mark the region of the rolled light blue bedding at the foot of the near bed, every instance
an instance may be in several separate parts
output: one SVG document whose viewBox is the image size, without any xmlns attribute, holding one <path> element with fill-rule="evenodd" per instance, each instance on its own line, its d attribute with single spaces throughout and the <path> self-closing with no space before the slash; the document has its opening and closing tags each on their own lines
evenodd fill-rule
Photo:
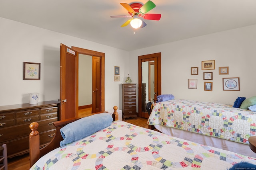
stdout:
<svg viewBox="0 0 256 170">
<path fill-rule="evenodd" d="M 109 113 L 99 113 L 69 123 L 60 129 L 60 134 L 64 139 L 60 141 L 60 146 L 78 141 L 104 129 L 111 125 L 112 121 L 113 118 Z"/>
</svg>

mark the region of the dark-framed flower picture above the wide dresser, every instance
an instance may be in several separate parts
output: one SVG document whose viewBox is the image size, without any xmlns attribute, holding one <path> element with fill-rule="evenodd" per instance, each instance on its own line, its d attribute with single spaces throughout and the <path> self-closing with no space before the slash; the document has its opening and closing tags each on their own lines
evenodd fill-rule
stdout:
<svg viewBox="0 0 256 170">
<path fill-rule="evenodd" d="M 23 62 L 23 80 L 40 80 L 40 63 Z"/>
</svg>

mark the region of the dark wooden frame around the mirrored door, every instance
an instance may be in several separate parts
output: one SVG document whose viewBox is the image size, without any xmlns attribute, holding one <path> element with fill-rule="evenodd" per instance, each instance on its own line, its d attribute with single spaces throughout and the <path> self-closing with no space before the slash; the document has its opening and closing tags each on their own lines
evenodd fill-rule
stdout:
<svg viewBox="0 0 256 170">
<path fill-rule="evenodd" d="M 151 58 L 157 58 L 157 92 L 158 95 L 160 95 L 161 92 L 161 53 L 154 53 L 154 54 L 148 54 L 148 55 L 141 55 L 138 56 L 138 72 L 139 72 L 139 81 L 138 81 L 138 117 L 141 117 L 142 115 L 142 60 L 143 59 L 151 59 Z"/>
</svg>

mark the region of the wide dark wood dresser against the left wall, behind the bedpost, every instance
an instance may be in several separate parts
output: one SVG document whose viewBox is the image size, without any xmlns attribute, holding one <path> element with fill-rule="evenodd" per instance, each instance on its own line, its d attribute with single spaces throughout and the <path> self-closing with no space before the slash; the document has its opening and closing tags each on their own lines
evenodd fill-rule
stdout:
<svg viewBox="0 0 256 170">
<path fill-rule="evenodd" d="M 39 123 L 40 146 L 48 144 L 55 135 L 59 102 L 0 106 L 0 145 L 6 143 L 8 158 L 29 152 L 29 125 Z"/>
</svg>

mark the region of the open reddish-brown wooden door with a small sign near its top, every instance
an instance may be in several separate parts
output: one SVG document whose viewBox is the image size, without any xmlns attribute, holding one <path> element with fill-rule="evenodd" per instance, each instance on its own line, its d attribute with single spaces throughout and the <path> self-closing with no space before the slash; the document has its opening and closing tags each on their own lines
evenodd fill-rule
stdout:
<svg viewBox="0 0 256 170">
<path fill-rule="evenodd" d="M 78 53 L 60 44 L 60 120 L 78 117 Z"/>
</svg>

